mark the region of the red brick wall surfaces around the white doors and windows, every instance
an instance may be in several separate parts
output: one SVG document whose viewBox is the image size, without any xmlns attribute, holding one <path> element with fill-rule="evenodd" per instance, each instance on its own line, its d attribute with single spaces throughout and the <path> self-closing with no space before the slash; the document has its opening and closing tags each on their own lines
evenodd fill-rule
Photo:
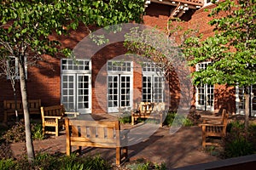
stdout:
<svg viewBox="0 0 256 170">
<path fill-rule="evenodd" d="M 166 22 L 169 18 L 170 11 L 173 7 L 167 5 L 160 5 L 156 3 L 151 3 L 146 8 L 146 15 L 143 16 L 143 23 L 148 26 L 157 26 L 160 30 L 166 31 Z M 212 8 L 208 6 L 207 8 Z M 189 13 L 183 16 L 183 20 L 189 20 L 189 14 L 194 13 L 194 11 L 189 11 Z M 204 37 L 212 36 L 212 27 L 207 25 L 207 22 L 211 20 L 207 17 L 208 12 L 204 11 L 204 8 L 199 9 L 192 15 L 191 20 L 183 22 L 181 24 L 184 29 L 188 28 L 198 28 L 200 33 L 204 34 Z M 95 29 L 95 28 L 93 28 Z M 63 47 L 74 48 L 75 45 L 81 41 L 88 31 L 83 26 L 80 26 L 77 31 L 72 31 L 69 37 L 57 37 L 61 40 Z M 56 38 L 53 36 L 52 38 Z M 95 92 L 95 81 L 96 75 L 105 65 L 108 59 L 112 59 L 117 55 L 125 54 L 125 48 L 122 47 L 122 43 L 115 43 L 106 48 L 103 48 L 92 58 L 92 110 L 94 112 L 102 112 L 101 105 L 96 101 Z M 40 61 L 37 67 L 30 67 L 28 69 L 28 97 L 29 99 L 42 99 L 42 105 L 57 105 L 60 104 L 61 100 L 61 68 L 60 68 L 60 56 L 45 57 L 45 61 Z M 141 93 L 142 90 L 142 75 L 139 71 L 134 71 L 134 84 L 133 88 L 137 89 Z M 173 72 L 170 77 L 170 95 L 171 103 L 170 108 L 176 110 L 179 103 L 179 82 L 175 72 Z M 19 84 L 17 83 L 17 86 Z M 10 82 L 6 78 L 1 79 L 0 83 L 0 112 L 3 114 L 3 99 L 13 99 L 13 91 Z M 20 96 L 19 87 L 17 88 L 17 94 Z M 218 111 L 223 107 L 227 107 L 231 112 L 235 112 L 235 97 L 234 88 L 226 88 L 225 86 L 216 86 L 215 90 L 215 110 Z M 195 93 L 195 92 L 194 92 Z M 141 96 L 134 93 L 134 99 L 140 100 Z M 102 99 L 107 100 L 107 91 L 102 92 Z M 195 99 L 192 104 L 195 103 Z M 227 105 L 229 103 L 229 105 Z M 134 104 L 135 105 L 135 104 Z M 105 105 L 107 107 L 107 103 Z M 0 114 L 1 115 L 1 114 Z"/>
</svg>

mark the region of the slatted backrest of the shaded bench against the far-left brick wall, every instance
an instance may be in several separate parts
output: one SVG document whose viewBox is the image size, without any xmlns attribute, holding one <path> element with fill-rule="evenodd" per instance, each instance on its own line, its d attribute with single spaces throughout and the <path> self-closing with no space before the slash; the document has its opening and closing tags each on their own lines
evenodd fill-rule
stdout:
<svg viewBox="0 0 256 170">
<path fill-rule="evenodd" d="M 29 109 L 38 109 L 41 107 L 41 99 L 29 99 L 28 108 Z M 21 100 L 17 100 L 17 109 L 22 110 L 23 105 Z M 15 100 L 4 100 L 3 101 L 4 110 L 15 110 Z"/>
</svg>

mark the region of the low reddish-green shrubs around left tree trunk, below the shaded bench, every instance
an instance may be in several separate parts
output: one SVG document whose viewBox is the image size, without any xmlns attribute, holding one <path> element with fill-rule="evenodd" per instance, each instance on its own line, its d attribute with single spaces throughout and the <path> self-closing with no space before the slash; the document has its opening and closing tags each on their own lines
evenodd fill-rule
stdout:
<svg viewBox="0 0 256 170">
<path fill-rule="evenodd" d="M 41 123 L 32 122 L 31 128 L 32 139 L 44 139 Z M 20 122 L 15 122 L 15 125 L 11 126 L 9 130 L 3 134 L 3 139 L 5 139 L 5 141 L 9 143 L 25 142 L 26 134 L 24 120 L 20 120 Z"/>
</svg>

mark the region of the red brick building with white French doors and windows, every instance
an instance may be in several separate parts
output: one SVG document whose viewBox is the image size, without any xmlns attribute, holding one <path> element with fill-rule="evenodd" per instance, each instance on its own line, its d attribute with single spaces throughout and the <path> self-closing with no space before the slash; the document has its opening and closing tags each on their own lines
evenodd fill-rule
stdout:
<svg viewBox="0 0 256 170">
<path fill-rule="evenodd" d="M 149 3 L 150 2 L 150 3 Z M 143 24 L 166 30 L 167 20 L 179 17 L 184 20 L 183 28 L 196 28 L 205 37 L 213 35 L 207 24 L 209 17 L 205 8 L 214 5 L 207 0 L 151 0 L 146 2 Z M 59 37 L 64 47 L 74 48 L 88 35 L 84 27 L 71 32 L 69 37 Z M 168 107 L 177 110 L 180 99 L 178 77 L 168 78 L 164 85 L 161 75 L 155 74 L 152 65 L 138 65 L 133 59 L 122 60 L 117 56 L 125 54 L 122 42 L 115 42 L 99 50 L 90 59 L 79 59 L 79 65 L 72 59 L 61 56 L 44 56 L 38 65 L 27 68 L 27 93 L 29 99 L 41 99 L 42 105 L 63 103 L 69 111 L 82 113 L 118 112 L 119 108 L 134 108 L 136 102 L 161 102 L 169 99 Z M 111 60 L 113 59 L 113 60 Z M 119 63 L 120 65 L 114 65 Z M 111 65 L 113 67 L 111 67 Z M 207 63 L 198 65 L 203 69 Z M 18 98 L 20 84 L 16 81 Z M 152 90 L 154 89 L 154 90 Z M 2 77 L 0 84 L 0 117 L 3 116 L 3 100 L 14 99 L 9 80 Z M 166 91 L 167 90 L 167 91 Z M 253 91 L 254 90 L 254 91 Z M 255 87 L 252 93 L 255 94 Z M 227 108 L 232 114 L 243 113 L 242 89 L 227 88 L 224 85 L 201 85 L 193 89 L 191 105 L 199 110 L 218 112 Z M 255 101 L 254 101 L 255 102 Z M 253 97 L 251 110 L 255 111 Z"/>
</svg>

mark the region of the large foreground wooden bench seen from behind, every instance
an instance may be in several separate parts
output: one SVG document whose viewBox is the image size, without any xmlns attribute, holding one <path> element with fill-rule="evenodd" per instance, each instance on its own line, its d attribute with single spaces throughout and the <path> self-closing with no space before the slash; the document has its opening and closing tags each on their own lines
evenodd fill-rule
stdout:
<svg viewBox="0 0 256 170">
<path fill-rule="evenodd" d="M 66 118 L 67 156 L 72 146 L 115 148 L 116 165 L 128 158 L 129 130 L 120 131 L 119 121 L 87 121 Z"/>
</svg>

